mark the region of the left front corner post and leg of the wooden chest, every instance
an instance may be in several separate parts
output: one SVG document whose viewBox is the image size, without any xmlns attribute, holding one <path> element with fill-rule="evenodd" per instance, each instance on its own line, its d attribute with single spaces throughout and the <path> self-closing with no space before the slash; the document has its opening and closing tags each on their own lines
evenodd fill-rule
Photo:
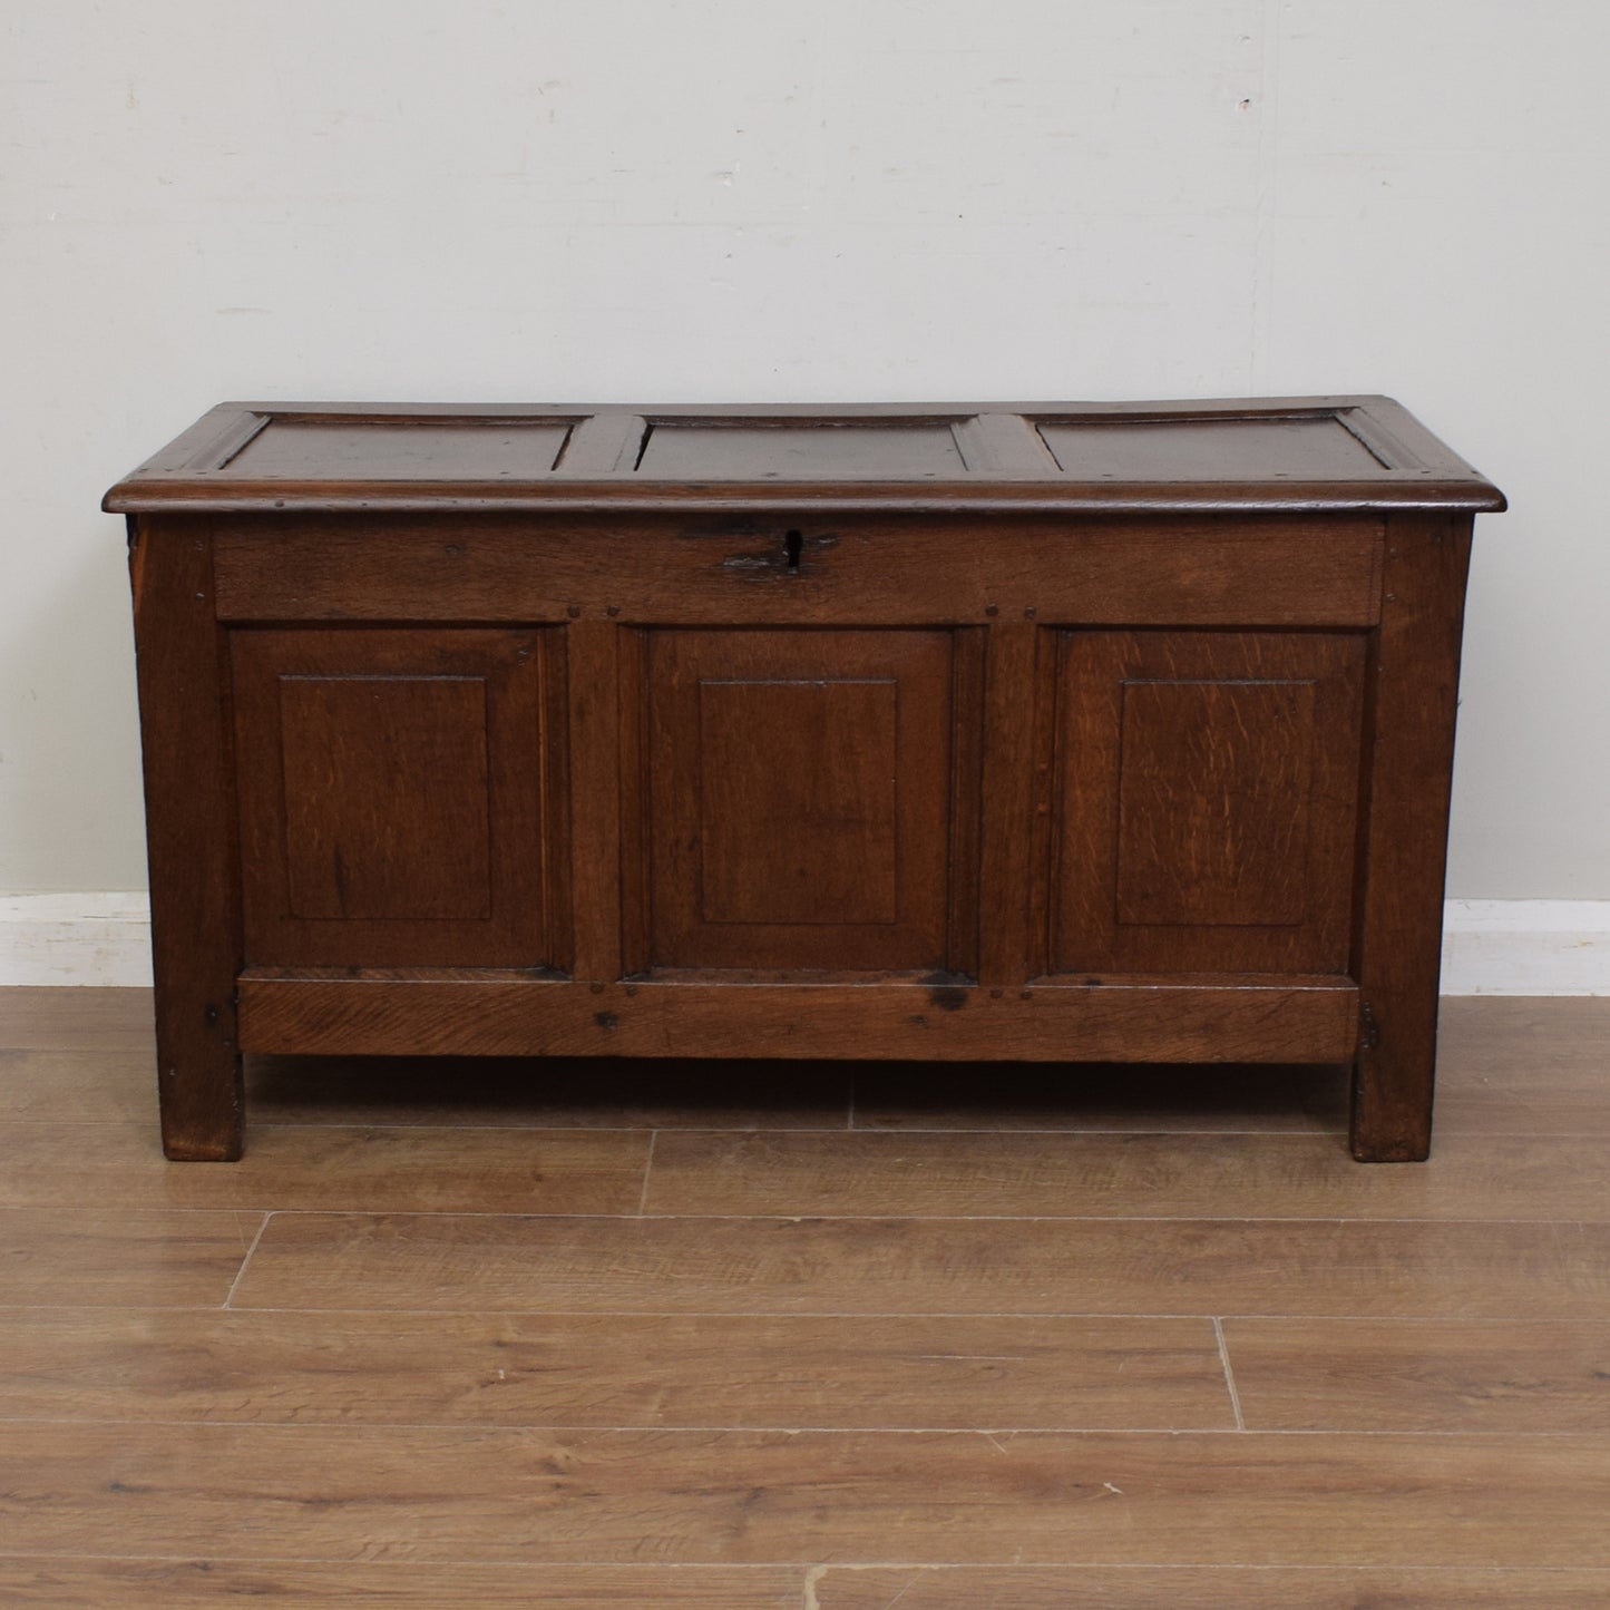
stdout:
<svg viewBox="0 0 1610 1610">
<path fill-rule="evenodd" d="M 229 1161 L 243 1143 L 235 976 L 245 950 L 213 533 L 148 517 L 129 538 L 163 1145 L 174 1159 Z"/>
</svg>

